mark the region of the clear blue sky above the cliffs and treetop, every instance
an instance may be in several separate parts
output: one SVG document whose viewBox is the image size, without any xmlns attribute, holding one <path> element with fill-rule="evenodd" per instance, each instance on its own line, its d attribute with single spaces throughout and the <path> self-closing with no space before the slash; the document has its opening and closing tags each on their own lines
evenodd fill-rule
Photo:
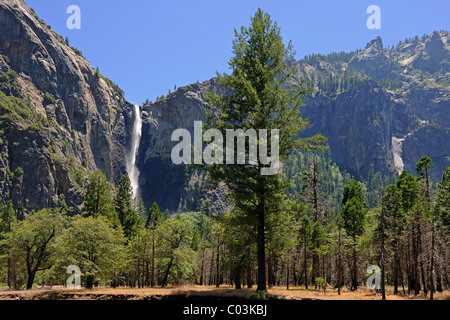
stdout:
<svg viewBox="0 0 450 320">
<path fill-rule="evenodd" d="M 385 46 L 406 37 L 450 30 L 449 0 L 26 0 L 52 29 L 142 104 L 178 87 L 226 72 L 234 29 L 258 7 L 292 40 L 297 58 L 351 51 L 381 36 Z M 81 30 L 69 30 L 69 5 L 81 9 Z M 369 30 L 369 5 L 381 9 L 381 30 Z"/>
</svg>

